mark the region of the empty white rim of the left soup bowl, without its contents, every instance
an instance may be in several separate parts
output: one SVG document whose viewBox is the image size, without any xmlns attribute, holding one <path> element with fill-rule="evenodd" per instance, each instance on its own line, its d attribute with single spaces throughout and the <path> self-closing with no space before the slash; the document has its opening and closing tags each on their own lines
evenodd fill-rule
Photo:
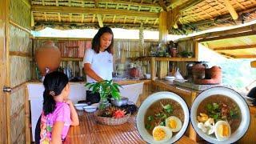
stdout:
<svg viewBox="0 0 256 144">
<path fill-rule="evenodd" d="M 156 101 L 164 98 L 170 98 L 176 102 L 178 102 L 183 109 L 184 112 L 184 122 L 182 125 L 182 129 L 178 131 L 177 134 L 174 135 L 174 137 L 170 138 L 169 141 L 164 143 L 174 143 L 178 141 L 179 138 L 182 138 L 183 134 L 186 132 L 187 127 L 189 126 L 190 122 L 190 112 L 186 105 L 186 102 L 177 94 L 171 93 L 171 92 L 158 92 L 151 94 L 144 102 L 142 102 L 142 105 L 138 109 L 138 114 L 136 117 L 136 125 L 138 129 L 138 133 L 141 135 L 142 139 L 145 140 L 148 143 L 159 143 L 157 141 L 154 141 L 154 138 L 152 135 L 150 135 L 145 128 L 144 123 L 144 115 L 146 114 L 146 110 Z"/>
</svg>

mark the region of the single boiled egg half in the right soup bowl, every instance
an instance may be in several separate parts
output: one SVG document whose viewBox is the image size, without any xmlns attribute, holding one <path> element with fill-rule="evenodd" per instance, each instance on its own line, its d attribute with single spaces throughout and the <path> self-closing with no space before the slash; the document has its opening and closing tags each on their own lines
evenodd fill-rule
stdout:
<svg viewBox="0 0 256 144">
<path fill-rule="evenodd" d="M 230 124 L 226 121 L 218 121 L 215 124 L 214 133 L 219 141 L 225 141 L 230 138 L 231 128 Z"/>
</svg>

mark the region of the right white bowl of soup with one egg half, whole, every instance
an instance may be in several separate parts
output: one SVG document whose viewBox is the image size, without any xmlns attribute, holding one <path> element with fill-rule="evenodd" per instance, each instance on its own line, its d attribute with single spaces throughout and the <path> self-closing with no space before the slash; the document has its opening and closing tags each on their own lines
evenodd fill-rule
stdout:
<svg viewBox="0 0 256 144">
<path fill-rule="evenodd" d="M 194 130 L 207 142 L 233 143 L 246 134 L 250 110 L 236 91 L 214 87 L 194 99 L 190 119 Z"/>
</svg>

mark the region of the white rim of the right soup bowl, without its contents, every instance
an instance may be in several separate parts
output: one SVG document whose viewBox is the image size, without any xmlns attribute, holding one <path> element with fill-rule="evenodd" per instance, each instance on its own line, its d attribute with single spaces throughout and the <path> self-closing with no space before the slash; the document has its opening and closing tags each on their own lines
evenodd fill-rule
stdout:
<svg viewBox="0 0 256 144">
<path fill-rule="evenodd" d="M 197 110 L 198 110 L 199 104 L 205 98 L 208 98 L 215 94 L 222 94 L 222 95 L 225 95 L 226 97 L 232 98 L 234 102 L 237 102 L 242 113 L 242 121 L 240 123 L 240 126 L 234 133 L 231 134 L 230 138 L 226 141 L 218 141 L 218 139 L 215 138 L 215 136 L 210 136 L 203 133 L 202 130 L 198 128 L 198 124 L 197 124 Z M 249 107 L 247 106 L 246 100 L 242 98 L 242 96 L 238 94 L 236 91 L 226 87 L 214 87 L 214 88 L 210 88 L 203 91 L 201 94 L 198 95 L 197 98 L 194 99 L 194 102 L 191 106 L 191 111 L 190 111 L 190 120 L 192 122 L 192 126 L 194 127 L 194 130 L 199 134 L 200 137 L 205 139 L 207 142 L 222 143 L 222 144 L 233 143 L 233 142 L 237 142 L 240 138 L 242 138 L 244 134 L 246 134 L 246 131 L 248 130 L 250 125 L 250 111 L 249 111 Z"/>
</svg>

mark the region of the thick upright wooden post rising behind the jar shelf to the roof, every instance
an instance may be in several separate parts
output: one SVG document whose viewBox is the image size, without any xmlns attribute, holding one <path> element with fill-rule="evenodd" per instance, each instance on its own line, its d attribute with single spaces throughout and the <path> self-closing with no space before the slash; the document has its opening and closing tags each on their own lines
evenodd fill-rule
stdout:
<svg viewBox="0 0 256 144">
<path fill-rule="evenodd" d="M 159 17 L 159 42 L 167 42 L 167 16 L 168 12 L 162 11 Z M 164 78 L 168 74 L 168 62 L 159 62 L 158 79 Z"/>
</svg>

